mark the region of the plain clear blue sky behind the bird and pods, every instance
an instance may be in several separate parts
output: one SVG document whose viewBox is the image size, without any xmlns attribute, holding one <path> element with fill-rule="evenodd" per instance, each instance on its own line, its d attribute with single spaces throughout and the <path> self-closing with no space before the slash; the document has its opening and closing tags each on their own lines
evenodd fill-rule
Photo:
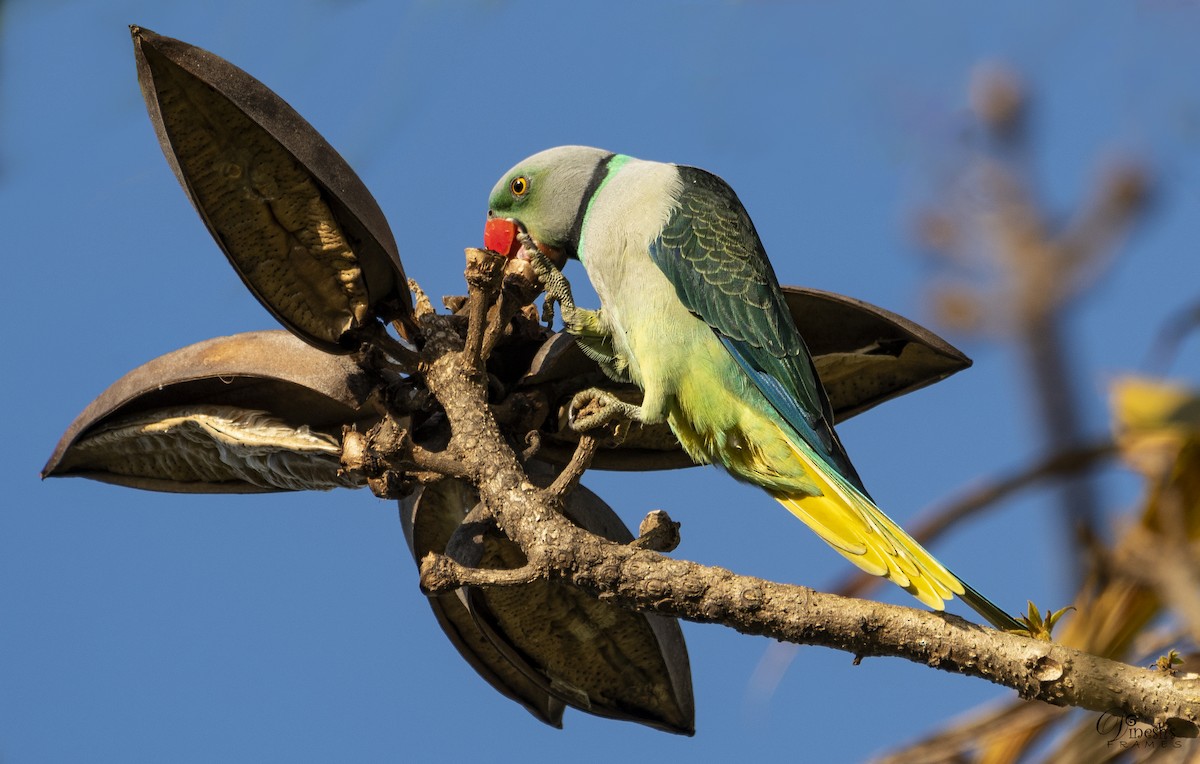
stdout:
<svg viewBox="0 0 1200 764">
<path fill-rule="evenodd" d="M 1012 697 L 806 648 L 763 698 L 751 678 L 770 642 L 688 624 L 694 739 L 575 711 L 554 730 L 452 651 L 395 507 L 366 492 L 214 498 L 40 482 L 61 432 L 126 371 L 274 326 L 163 161 L 133 23 L 208 48 L 288 100 L 372 190 L 432 295 L 463 290 L 462 248 L 481 241 L 496 178 L 540 149 L 583 143 L 722 175 L 780 281 L 929 323 L 931 271 L 912 221 L 961 151 L 968 72 L 990 59 L 1033 88 L 1033 169 L 1055 215 L 1088 194 L 1105 158 L 1141 157 L 1158 175 L 1147 224 L 1069 321 L 1091 432 L 1105 428 L 1108 380 L 1139 368 L 1200 283 L 1190 4 L 10 0 L 0 758 L 856 760 Z M 568 276 L 587 303 L 582 272 Z M 973 368 L 840 428 L 872 494 L 906 524 L 1038 450 L 1012 350 L 947 336 Z M 1195 341 L 1172 372 L 1200 379 Z M 712 469 L 586 482 L 632 527 L 666 509 L 683 523 L 680 557 L 818 588 L 848 567 Z M 1112 512 L 1136 495 L 1128 477 L 1105 487 Z M 935 553 L 1010 609 L 1066 604 L 1052 506 L 1022 497 Z M 912 604 L 899 590 L 875 596 Z"/>
</svg>

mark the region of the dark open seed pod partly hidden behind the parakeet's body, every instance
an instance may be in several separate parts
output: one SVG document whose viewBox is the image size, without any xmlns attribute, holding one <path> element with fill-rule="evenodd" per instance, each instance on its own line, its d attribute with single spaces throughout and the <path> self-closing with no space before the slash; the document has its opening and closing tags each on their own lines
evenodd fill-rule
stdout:
<svg viewBox="0 0 1200 764">
<path fill-rule="evenodd" d="M 784 296 L 812 354 L 836 421 L 971 366 L 971 359 L 934 332 L 869 302 L 804 287 L 784 287 Z M 641 401 L 637 387 L 605 377 L 566 333 L 546 341 L 521 385 L 547 390 L 559 411 L 557 431 L 544 434 L 539 452 L 557 463 L 570 458 L 578 440 L 566 421 L 566 408 L 576 392 L 602 387 L 618 397 Z M 635 423 L 620 447 L 599 451 L 592 465 L 649 470 L 691 467 L 692 461 L 665 423 Z"/>
</svg>

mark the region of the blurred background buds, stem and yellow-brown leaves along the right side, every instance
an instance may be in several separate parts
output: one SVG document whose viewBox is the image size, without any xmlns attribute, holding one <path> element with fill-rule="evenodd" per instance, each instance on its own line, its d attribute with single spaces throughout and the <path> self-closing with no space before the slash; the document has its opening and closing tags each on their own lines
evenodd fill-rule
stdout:
<svg viewBox="0 0 1200 764">
<path fill-rule="evenodd" d="M 934 294 L 942 320 L 1016 351 L 1051 455 L 1045 464 L 1062 465 L 1057 474 L 1038 467 L 1027 482 L 1049 476 L 1062 487 L 1060 563 L 1079 576 L 1079 589 L 1072 606 L 1044 614 L 1031 602 L 1022 620 L 1032 636 L 1094 655 L 1194 670 L 1194 658 L 1178 657 L 1177 648 L 1190 649 L 1200 638 L 1200 393 L 1159 379 L 1120 378 L 1111 384 L 1114 444 L 1090 445 L 1081 404 L 1088 372 L 1076 367 L 1064 320 L 1144 219 L 1153 179 L 1141 164 L 1110 164 L 1078 211 L 1050 212 L 1028 172 L 1022 83 L 1001 66 L 980 67 L 970 102 L 978 142 L 918 233 L 946 277 Z M 1145 481 L 1134 506 L 1106 506 L 1096 482 L 1074 477 L 1076 459 L 1063 458 L 1086 458 L 1085 471 L 1097 473 L 1109 453 Z M 1118 511 L 1116 522 L 1100 519 L 1106 509 Z M 1106 746 L 1094 714 L 1012 703 L 970 715 L 888 760 L 1102 762 L 1150 753 L 1150 744 L 1170 738 L 1170 730 L 1130 728 L 1145 745 Z M 1159 753 L 1176 751 L 1172 745 Z"/>
</svg>

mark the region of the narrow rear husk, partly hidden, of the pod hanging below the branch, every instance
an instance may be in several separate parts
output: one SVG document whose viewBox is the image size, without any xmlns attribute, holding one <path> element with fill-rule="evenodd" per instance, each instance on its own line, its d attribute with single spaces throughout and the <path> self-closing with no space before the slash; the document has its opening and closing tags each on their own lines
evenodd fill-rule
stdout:
<svg viewBox="0 0 1200 764">
<path fill-rule="evenodd" d="M 400 519 L 413 559 L 420 565 L 426 554 L 442 554 L 454 531 L 462 524 L 479 495 L 469 483 L 446 477 L 421 486 L 400 503 Z M 497 692 L 516 700 L 551 727 L 563 727 L 563 702 L 550 694 L 545 682 L 521 673 L 475 625 L 458 595 L 440 594 L 428 598 L 442 631 L 458 654 Z"/>
</svg>

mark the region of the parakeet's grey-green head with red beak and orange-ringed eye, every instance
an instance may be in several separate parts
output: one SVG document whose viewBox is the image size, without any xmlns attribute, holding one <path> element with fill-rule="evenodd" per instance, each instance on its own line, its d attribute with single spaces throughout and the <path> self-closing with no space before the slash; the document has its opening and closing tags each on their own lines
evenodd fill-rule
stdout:
<svg viewBox="0 0 1200 764">
<path fill-rule="evenodd" d="M 601 149 L 558 146 L 523 160 L 492 188 L 485 246 L 508 257 L 517 254 L 515 224 L 556 265 L 577 257 L 584 200 L 602 178 L 596 170 L 611 156 Z"/>
</svg>

